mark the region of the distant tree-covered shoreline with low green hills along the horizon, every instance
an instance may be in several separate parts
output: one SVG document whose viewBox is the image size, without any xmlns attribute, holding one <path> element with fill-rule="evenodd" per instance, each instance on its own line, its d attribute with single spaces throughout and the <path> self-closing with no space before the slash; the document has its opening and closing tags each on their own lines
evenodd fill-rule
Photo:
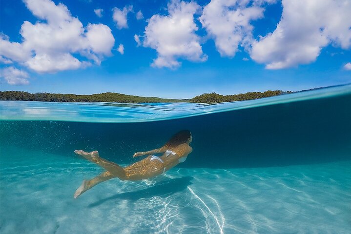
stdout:
<svg viewBox="0 0 351 234">
<path fill-rule="evenodd" d="M 217 93 L 205 93 L 190 99 L 169 99 L 157 97 L 140 97 L 119 93 L 101 93 L 92 95 L 76 94 L 52 94 L 52 93 L 28 93 L 23 91 L 0 91 L 0 100 L 17 101 L 47 101 L 47 102 L 121 102 L 121 103 L 150 103 L 150 102 L 194 102 L 194 103 L 219 103 L 229 101 L 243 101 L 259 98 L 268 98 L 278 95 L 298 93 L 310 90 L 324 89 L 329 87 L 342 86 L 334 85 L 328 87 L 313 88 L 297 92 L 268 90 L 265 92 L 248 92 L 245 94 L 220 95 Z"/>
</svg>

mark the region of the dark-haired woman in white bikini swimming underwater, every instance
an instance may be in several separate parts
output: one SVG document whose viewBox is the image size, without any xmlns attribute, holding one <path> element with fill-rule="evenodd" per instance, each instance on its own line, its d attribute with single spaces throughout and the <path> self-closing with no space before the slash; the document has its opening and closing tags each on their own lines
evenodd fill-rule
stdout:
<svg viewBox="0 0 351 234">
<path fill-rule="evenodd" d="M 141 180 L 163 174 L 180 162 L 184 162 L 188 154 L 192 152 L 189 144 L 192 141 L 190 131 L 183 130 L 173 135 L 164 146 L 146 152 L 137 152 L 133 157 L 149 155 L 141 161 L 133 163 L 127 167 L 121 167 L 114 162 L 110 162 L 99 156 L 97 151 L 90 153 L 83 150 L 75 150 L 74 153 L 83 156 L 85 159 L 95 162 L 104 169 L 105 172 L 90 180 L 83 180 L 82 185 L 76 190 L 74 198 L 83 194 L 95 185 L 111 178 L 118 177 L 121 180 Z M 154 156 L 152 154 L 161 154 Z"/>
</svg>

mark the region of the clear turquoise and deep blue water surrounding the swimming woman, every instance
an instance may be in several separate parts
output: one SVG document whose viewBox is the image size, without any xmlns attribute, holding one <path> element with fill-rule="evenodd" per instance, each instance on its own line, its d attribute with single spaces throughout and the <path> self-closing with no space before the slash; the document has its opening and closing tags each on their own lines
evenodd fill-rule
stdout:
<svg viewBox="0 0 351 234">
<path fill-rule="evenodd" d="M 251 101 L 0 101 L 0 232 L 350 233 L 351 85 Z M 193 152 L 163 176 L 111 179 L 75 155 L 123 166 L 189 129 Z"/>
</svg>

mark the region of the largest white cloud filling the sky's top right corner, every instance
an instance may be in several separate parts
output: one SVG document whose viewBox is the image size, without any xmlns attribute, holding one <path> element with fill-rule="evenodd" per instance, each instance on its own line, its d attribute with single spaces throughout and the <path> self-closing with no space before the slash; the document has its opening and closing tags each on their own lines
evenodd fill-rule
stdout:
<svg viewBox="0 0 351 234">
<path fill-rule="evenodd" d="M 330 43 L 351 46 L 350 0 L 282 0 L 277 28 L 252 45 L 250 56 L 267 69 L 282 69 L 316 60 Z"/>
</svg>

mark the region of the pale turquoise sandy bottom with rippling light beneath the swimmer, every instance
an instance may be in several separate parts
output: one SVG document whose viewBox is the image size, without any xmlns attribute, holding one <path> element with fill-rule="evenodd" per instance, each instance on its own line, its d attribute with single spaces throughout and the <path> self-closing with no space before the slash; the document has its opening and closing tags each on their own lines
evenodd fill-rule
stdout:
<svg viewBox="0 0 351 234">
<path fill-rule="evenodd" d="M 39 162 L 38 157 L 46 158 Z M 173 169 L 112 179 L 77 200 L 102 169 L 29 152 L 2 160 L 0 231 L 10 233 L 350 233 L 351 161 L 268 168 Z"/>
</svg>

